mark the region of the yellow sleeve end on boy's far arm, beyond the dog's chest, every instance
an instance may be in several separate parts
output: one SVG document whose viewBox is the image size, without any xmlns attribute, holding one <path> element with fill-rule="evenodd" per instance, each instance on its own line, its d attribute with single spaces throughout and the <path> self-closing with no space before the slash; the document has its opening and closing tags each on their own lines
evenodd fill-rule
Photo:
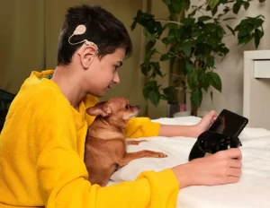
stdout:
<svg viewBox="0 0 270 208">
<path fill-rule="evenodd" d="M 129 138 L 157 136 L 160 124 L 152 122 L 148 117 L 133 117 L 126 126 L 126 136 Z"/>
</svg>

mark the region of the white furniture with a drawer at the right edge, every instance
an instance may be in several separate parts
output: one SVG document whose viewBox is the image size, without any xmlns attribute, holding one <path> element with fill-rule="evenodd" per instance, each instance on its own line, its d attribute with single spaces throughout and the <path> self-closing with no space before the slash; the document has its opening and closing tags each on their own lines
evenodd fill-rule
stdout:
<svg viewBox="0 0 270 208">
<path fill-rule="evenodd" d="M 270 130 L 270 50 L 245 51 L 243 116 L 249 127 Z M 257 79 L 256 76 L 260 76 Z M 265 78 L 262 78 L 265 76 Z"/>
</svg>

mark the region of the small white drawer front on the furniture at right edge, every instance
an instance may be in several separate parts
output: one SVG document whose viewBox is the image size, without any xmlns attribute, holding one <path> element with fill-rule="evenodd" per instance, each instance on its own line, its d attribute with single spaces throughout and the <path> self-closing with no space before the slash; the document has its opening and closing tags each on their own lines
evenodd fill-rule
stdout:
<svg viewBox="0 0 270 208">
<path fill-rule="evenodd" d="M 254 61 L 254 78 L 270 78 L 270 60 Z"/>
</svg>

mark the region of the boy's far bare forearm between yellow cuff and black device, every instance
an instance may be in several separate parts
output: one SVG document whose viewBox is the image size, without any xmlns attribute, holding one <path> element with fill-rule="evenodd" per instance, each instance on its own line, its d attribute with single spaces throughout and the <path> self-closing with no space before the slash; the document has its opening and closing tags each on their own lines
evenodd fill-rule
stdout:
<svg viewBox="0 0 270 208">
<path fill-rule="evenodd" d="M 161 125 L 158 135 L 167 137 L 172 136 L 197 137 L 198 130 L 196 126 Z"/>
</svg>

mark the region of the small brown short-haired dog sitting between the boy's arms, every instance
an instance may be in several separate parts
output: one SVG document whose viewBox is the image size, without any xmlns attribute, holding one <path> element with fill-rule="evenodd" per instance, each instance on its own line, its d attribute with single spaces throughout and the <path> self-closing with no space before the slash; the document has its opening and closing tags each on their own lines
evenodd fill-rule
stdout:
<svg viewBox="0 0 270 208">
<path fill-rule="evenodd" d="M 127 142 L 125 137 L 125 126 L 131 117 L 138 115 L 139 106 L 130 106 L 123 98 L 113 98 L 87 108 L 86 112 L 95 116 L 85 139 L 85 166 L 92 184 L 106 186 L 113 172 L 130 160 L 166 157 L 162 152 L 126 152 L 127 144 L 143 142 Z"/>
</svg>

